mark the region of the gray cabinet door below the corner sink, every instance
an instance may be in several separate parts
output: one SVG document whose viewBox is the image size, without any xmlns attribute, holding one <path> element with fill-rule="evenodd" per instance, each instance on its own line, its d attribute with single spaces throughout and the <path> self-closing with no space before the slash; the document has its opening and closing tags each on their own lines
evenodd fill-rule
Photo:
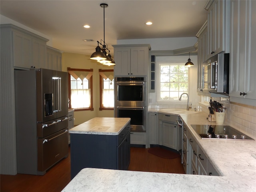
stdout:
<svg viewBox="0 0 256 192">
<path fill-rule="evenodd" d="M 162 123 L 162 145 L 177 150 L 177 125 Z"/>
</svg>

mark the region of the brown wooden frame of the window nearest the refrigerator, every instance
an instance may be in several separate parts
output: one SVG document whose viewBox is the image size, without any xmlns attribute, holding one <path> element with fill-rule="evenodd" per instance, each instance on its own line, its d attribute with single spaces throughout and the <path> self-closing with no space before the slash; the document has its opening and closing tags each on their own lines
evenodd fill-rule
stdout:
<svg viewBox="0 0 256 192">
<path fill-rule="evenodd" d="M 68 67 L 67 68 L 68 71 L 89 71 L 89 72 L 93 72 L 93 69 L 75 69 L 75 68 L 70 68 Z M 93 75 L 92 75 L 93 76 Z M 88 79 L 89 81 L 89 88 L 91 90 L 91 99 L 90 99 L 90 107 L 88 108 L 76 108 L 76 109 L 73 109 L 71 108 L 71 75 L 68 73 L 68 98 L 70 99 L 70 106 L 69 106 L 69 109 L 73 109 L 74 111 L 93 111 L 94 108 L 93 108 L 93 88 L 92 88 L 92 76 L 90 77 L 90 79 Z"/>
</svg>

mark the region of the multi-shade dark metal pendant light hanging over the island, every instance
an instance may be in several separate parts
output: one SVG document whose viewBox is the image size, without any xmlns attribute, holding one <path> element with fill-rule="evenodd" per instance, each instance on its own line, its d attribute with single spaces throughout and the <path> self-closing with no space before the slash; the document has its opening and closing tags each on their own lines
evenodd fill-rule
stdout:
<svg viewBox="0 0 256 192">
<path fill-rule="evenodd" d="M 96 52 L 94 52 L 90 59 L 93 60 L 97 60 L 97 62 L 100 62 L 101 64 L 104 65 L 115 65 L 115 61 L 111 58 L 111 55 L 109 54 L 110 50 L 108 50 L 107 44 L 105 43 L 105 8 L 108 7 L 108 4 L 106 3 L 102 3 L 100 4 L 100 7 L 103 8 L 103 23 L 104 23 L 104 40 L 103 40 L 103 44 L 102 44 L 102 40 L 101 42 L 98 42 L 98 46 L 96 47 Z M 100 45 L 102 45 L 102 48 L 100 48 Z M 106 50 L 108 50 L 108 55 Z"/>
</svg>

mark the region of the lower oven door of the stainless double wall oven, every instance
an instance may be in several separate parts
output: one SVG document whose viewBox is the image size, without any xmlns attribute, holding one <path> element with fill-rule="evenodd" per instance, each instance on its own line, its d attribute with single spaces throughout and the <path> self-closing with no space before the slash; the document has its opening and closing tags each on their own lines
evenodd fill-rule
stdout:
<svg viewBox="0 0 256 192">
<path fill-rule="evenodd" d="M 146 107 L 116 106 L 115 117 L 131 118 L 131 131 L 146 132 Z"/>
</svg>

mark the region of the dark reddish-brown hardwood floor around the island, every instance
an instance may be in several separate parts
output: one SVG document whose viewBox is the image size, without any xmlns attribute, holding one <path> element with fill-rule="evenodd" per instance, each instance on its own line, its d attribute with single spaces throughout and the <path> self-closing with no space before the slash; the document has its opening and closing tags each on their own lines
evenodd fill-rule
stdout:
<svg viewBox="0 0 256 192">
<path fill-rule="evenodd" d="M 129 170 L 185 173 L 181 159 L 164 159 L 146 148 L 131 148 Z M 0 175 L 0 192 L 60 192 L 70 182 L 70 155 L 50 168 L 44 176 Z"/>
</svg>

